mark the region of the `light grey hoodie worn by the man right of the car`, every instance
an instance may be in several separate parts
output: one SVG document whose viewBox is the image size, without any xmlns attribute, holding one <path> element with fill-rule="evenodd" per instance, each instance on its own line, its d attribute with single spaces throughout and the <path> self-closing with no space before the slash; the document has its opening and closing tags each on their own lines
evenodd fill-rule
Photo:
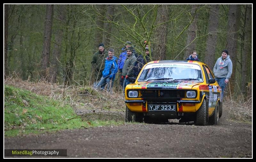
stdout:
<svg viewBox="0 0 256 162">
<path fill-rule="evenodd" d="M 225 60 L 222 59 L 222 56 L 218 58 L 216 61 L 214 67 L 213 67 L 213 73 L 216 78 L 226 78 L 229 79 L 232 74 L 232 61 L 230 60 L 229 55 Z"/>
</svg>

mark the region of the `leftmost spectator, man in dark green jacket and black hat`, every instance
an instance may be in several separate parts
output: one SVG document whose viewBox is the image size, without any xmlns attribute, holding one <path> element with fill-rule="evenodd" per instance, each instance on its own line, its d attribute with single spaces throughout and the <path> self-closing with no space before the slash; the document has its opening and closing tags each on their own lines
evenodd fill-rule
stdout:
<svg viewBox="0 0 256 162">
<path fill-rule="evenodd" d="M 102 77 L 102 71 L 105 66 L 105 59 L 108 56 L 107 51 L 105 51 L 104 44 L 99 44 L 99 50 L 95 52 L 95 54 L 92 57 L 92 72 L 93 72 L 93 87 L 97 85 L 100 78 Z"/>
</svg>

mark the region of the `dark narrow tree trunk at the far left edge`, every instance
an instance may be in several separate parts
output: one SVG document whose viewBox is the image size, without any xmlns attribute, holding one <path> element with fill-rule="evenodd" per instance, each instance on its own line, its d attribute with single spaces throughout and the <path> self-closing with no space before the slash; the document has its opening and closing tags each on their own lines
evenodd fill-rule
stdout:
<svg viewBox="0 0 256 162">
<path fill-rule="evenodd" d="M 4 5 L 4 78 L 8 75 L 7 45 L 8 45 L 8 16 L 9 4 Z"/>
</svg>

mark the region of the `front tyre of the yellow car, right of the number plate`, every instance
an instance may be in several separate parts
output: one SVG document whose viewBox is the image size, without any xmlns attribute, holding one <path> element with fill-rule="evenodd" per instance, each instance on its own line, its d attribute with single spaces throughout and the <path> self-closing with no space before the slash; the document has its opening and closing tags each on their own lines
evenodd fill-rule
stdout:
<svg viewBox="0 0 256 162">
<path fill-rule="evenodd" d="M 208 114 L 206 111 L 208 111 L 208 108 L 206 107 L 206 102 L 204 99 L 201 107 L 196 112 L 195 125 L 206 125 L 206 120 L 207 120 L 206 115 Z"/>
</svg>

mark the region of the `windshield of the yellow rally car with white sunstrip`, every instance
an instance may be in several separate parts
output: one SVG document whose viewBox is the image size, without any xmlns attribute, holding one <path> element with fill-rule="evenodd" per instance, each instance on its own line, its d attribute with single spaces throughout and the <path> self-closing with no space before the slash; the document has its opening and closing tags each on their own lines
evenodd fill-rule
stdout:
<svg viewBox="0 0 256 162">
<path fill-rule="evenodd" d="M 199 65 L 191 63 L 154 63 L 148 64 L 140 74 L 138 81 L 187 80 L 202 82 Z"/>
</svg>

